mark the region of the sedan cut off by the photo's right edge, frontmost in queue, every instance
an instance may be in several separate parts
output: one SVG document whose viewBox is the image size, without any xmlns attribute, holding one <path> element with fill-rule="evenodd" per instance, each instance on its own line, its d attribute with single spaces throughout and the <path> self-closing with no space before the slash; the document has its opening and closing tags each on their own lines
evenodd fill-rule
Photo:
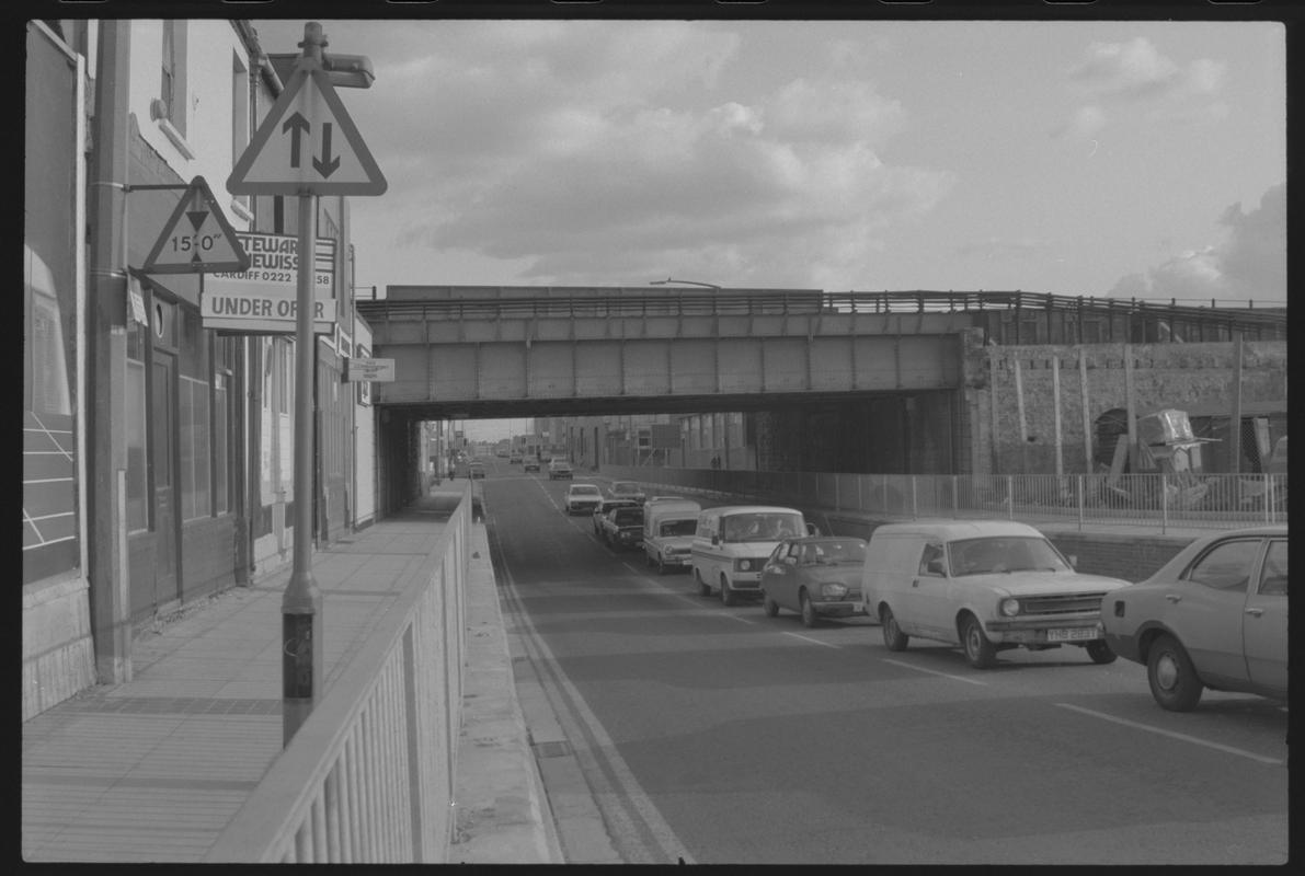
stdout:
<svg viewBox="0 0 1305 876">
<path fill-rule="evenodd" d="M 1105 641 L 1147 667 L 1155 701 L 1195 708 L 1205 688 L 1287 700 L 1287 525 L 1202 536 L 1111 593 Z"/>
</svg>

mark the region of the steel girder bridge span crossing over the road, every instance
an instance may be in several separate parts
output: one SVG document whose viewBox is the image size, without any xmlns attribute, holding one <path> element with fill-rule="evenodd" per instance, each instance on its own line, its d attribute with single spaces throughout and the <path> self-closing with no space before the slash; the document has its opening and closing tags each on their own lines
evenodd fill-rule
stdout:
<svg viewBox="0 0 1305 876">
<path fill-rule="evenodd" d="M 392 285 L 355 302 L 372 356 L 382 490 L 411 480 L 415 424 L 758 411 L 957 390 L 966 310 L 880 293 Z M 902 312 L 902 310 L 907 312 Z"/>
</svg>

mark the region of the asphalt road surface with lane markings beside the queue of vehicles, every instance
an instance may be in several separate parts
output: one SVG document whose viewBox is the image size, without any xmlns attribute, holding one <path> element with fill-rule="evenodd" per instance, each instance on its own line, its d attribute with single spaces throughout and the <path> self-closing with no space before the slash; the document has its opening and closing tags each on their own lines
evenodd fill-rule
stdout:
<svg viewBox="0 0 1305 876">
<path fill-rule="evenodd" d="M 491 545 L 624 860 L 1288 860 L 1279 704 L 1207 691 L 1176 714 L 1142 666 L 1078 648 L 981 671 L 944 645 L 889 652 L 865 618 L 727 609 L 599 542 L 566 486 L 491 460 Z"/>
</svg>

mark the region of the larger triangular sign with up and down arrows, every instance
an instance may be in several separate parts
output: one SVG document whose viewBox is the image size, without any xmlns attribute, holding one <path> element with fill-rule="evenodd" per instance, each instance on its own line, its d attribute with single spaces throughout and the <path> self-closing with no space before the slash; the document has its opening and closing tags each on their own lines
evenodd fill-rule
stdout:
<svg viewBox="0 0 1305 876">
<path fill-rule="evenodd" d="M 384 194 L 386 185 L 335 86 L 308 57 L 227 177 L 231 194 Z"/>
</svg>

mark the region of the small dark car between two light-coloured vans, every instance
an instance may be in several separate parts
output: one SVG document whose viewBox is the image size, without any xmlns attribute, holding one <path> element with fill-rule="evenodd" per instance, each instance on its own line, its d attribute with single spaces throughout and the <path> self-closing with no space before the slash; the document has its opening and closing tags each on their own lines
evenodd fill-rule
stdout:
<svg viewBox="0 0 1305 876">
<path fill-rule="evenodd" d="M 864 538 L 786 538 L 761 567 L 761 605 L 773 618 L 779 609 L 797 611 L 808 627 L 823 617 L 864 614 Z"/>
</svg>

